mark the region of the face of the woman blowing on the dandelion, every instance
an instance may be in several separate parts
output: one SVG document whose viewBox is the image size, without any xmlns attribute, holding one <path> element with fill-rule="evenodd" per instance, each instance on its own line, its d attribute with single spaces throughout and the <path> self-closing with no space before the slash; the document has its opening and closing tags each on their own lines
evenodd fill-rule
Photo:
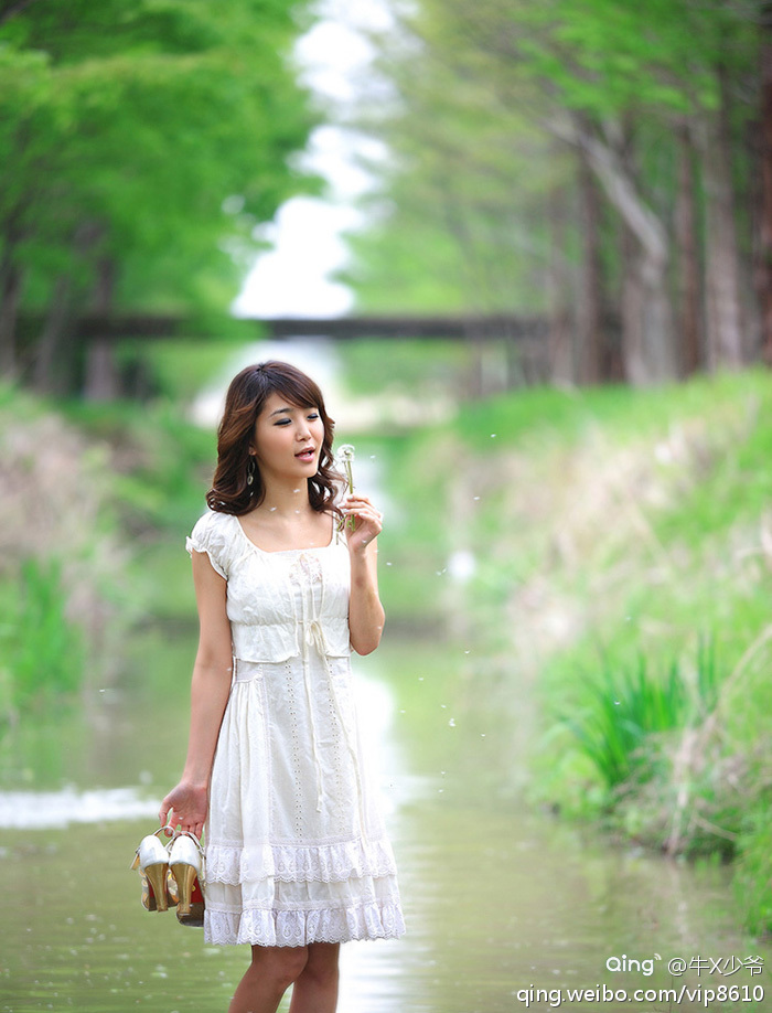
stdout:
<svg viewBox="0 0 772 1013">
<path fill-rule="evenodd" d="M 257 416 L 253 444 L 262 481 L 312 478 L 319 469 L 323 440 L 324 423 L 317 408 L 293 405 L 283 394 L 271 394 Z"/>
</svg>

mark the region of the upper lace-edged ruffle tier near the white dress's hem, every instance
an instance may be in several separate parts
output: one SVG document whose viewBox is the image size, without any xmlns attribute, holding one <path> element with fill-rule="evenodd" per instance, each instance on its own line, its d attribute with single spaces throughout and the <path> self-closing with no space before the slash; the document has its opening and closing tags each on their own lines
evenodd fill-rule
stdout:
<svg viewBox="0 0 772 1013">
<path fill-rule="evenodd" d="M 255 847 L 210 844 L 206 847 L 206 879 L 233 886 L 269 877 L 288 883 L 309 879 L 334 883 L 352 876 L 379 878 L 395 875 L 396 871 L 394 852 L 387 841 Z"/>
</svg>

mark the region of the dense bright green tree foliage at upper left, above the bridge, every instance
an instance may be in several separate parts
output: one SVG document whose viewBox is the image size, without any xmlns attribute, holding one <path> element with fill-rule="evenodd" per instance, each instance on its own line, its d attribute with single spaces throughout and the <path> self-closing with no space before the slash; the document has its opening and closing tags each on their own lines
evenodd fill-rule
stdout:
<svg viewBox="0 0 772 1013">
<path fill-rule="evenodd" d="M 226 308 L 256 224 L 313 186 L 288 164 L 314 122 L 303 23 L 291 0 L 0 6 L 6 373 L 66 377 L 84 311 Z"/>
</svg>

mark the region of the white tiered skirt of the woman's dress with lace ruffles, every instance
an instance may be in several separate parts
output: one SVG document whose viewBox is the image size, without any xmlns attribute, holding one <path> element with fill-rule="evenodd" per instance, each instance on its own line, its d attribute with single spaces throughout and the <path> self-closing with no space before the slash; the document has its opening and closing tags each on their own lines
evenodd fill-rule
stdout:
<svg viewBox="0 0 772 1013">
<path fill-rule="evenodd" d="M 405 931 L 347 658 L 237 661 L 206 827 L 204 938 L 304 946 Z"/>
</svg>

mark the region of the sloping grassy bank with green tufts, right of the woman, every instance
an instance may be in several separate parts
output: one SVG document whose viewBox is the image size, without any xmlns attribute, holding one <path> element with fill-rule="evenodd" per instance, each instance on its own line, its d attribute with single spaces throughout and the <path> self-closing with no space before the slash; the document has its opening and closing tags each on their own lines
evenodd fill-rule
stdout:
<svg viewBox="0 0 772 1013">
<path fill-rule="evenodd" d="M 533 724 L 530 801 L 737 860 L 754 930 L 772 926 L 771 407 L 762 372 L 530 390 L 380 447 L 403 504 L 384 593 L 485 646 L 476 692 Z"/>
</svg>

